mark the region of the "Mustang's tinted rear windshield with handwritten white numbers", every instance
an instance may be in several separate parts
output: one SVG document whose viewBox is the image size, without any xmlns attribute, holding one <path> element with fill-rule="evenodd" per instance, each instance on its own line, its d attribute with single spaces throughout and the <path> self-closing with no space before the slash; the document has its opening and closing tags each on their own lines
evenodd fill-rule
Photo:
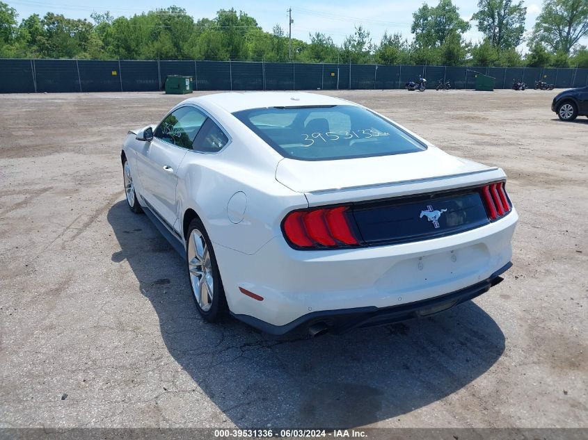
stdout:
<svg viewBox="0 0 588 440">
<path fill-rule="evenodd" d="M 289 158 L 326 161 L 427 149 L 395 124 L 358 106 L 254 108 L 233 114 Z"/>
</svg>

